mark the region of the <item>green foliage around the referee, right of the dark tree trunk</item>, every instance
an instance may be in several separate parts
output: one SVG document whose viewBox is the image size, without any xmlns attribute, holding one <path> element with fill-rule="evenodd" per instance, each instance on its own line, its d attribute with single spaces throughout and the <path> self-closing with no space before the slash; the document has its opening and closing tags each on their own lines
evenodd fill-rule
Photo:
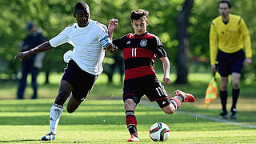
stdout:
<svg viewBox="0 0 256 144">
<path fill-rule="evenodd" d="M 235 1 L 232 3 L 231 14 L 240 15 L 246 22 L 250 30 L 250 38 L 252 42 L 253 55 L 255 55 L 256 46 L 256 18 L 254 18 L 254 7 L 256 3 L 252 0 Z M 206 62 L 206 66 L 210 65 L 209 52 L 209 31 L 210 22 L 218 17 L 218 2 L 215 0 L 197 0 L 194 3 L 194 8 L 190 17 L 190 56 L 199 57 L 199 61 Z M 253 56 L 254 57 L 254 56 Z M 256 64 L 253 60 L 253 65 L 246 68 L 246 71 L 255 73 Z"/>
</svg>

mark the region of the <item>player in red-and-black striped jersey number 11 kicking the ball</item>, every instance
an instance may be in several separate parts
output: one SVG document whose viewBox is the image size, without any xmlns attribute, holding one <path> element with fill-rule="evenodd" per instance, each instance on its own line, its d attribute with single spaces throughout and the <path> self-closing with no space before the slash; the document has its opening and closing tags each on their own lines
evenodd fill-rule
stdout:
<svg viewBox="0 0 256 144">
<path fill-rule="evenodd" d="M 114 39 L 113 43 L 122 50 L 125 62 L 125 80 L 123 87 L 123 101 L 126 110 L 126 126 L 130 132 L 128 142 L 138 142 L 137 119 L 135 107 L 144 94 L 151 102 L 155 101 L 166 114 L 173 114 L 182 102 L 194 102 L 192 94 L 175 90 L 174 98 L 168 98 L 164 86 L 159 82 L 154 69 L 156 57 L 162 61 L 164 71 L 163 82 L 170 84 L 170 62 L 160 39 L 146 31 L 149 21 L 147 10 L 133 10 L 130 14 L 131 26 L 134 34 L 126 34 L 122 38 Z M 111 19 L 109 34 L 112 35 L 118 26 L 117 19 Z"/>
</svg>

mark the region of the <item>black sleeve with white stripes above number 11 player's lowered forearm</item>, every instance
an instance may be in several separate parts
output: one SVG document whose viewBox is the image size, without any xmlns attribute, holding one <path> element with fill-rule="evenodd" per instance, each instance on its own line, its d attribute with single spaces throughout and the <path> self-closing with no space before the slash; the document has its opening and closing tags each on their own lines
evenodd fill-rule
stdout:
<svg viewBox="0 0 256 144">
<path fill-rule="evenodd" d="M 161 40 L 157 36 L 153 38 L 153 47 L 154 54 L 156 54 L 158 58 L 163 58 L 167 56 L 166 50 L 162 45 Z"/>
</svg>

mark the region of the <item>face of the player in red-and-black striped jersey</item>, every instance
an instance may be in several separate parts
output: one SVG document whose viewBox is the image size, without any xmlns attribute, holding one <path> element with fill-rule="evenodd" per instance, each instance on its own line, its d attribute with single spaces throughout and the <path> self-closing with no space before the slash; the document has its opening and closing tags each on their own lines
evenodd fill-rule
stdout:
<svg viewBox="0 0 256 144">
<path fill-rule="evenodd" d="M 146 33 L 146 26 L 148 24 L 149 24 L 149 21 L 146 19 L 146 16 L 138 20 L 134 19 L 133 22 L 131 22 L 131 26 L 133 26 L 134 28 L 134 33 L 138 35 L 142 35 Z"/>
</svg>

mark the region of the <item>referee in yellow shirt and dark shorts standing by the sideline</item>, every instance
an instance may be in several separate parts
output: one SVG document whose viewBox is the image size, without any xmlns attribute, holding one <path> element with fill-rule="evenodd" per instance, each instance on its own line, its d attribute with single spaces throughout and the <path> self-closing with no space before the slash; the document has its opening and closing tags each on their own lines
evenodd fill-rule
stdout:
<svg viewBox="0 0 256 144">
<path fill-rule="evenodd" d="M 236 119 L 236 104 L 238 101 L 240 86 L 239 81 L 243 68 L 251 63 L 250 32 L 244 20 L 235 14 L 230 14 L 231 4 L 227 0 L 218 2 L 218 10 L 221 14 L 210 25 L 210 64 L 221 75 L 220 98 L 222 102 L 221 118 L 227 119 L 226 101 L 228 75 L 232 76 L 232 106 L 230 118 Z M 245 47 L 245 50 L 243 50 Z M 246 54 L 245 54 L 246 53 Z"/>
</svg>

